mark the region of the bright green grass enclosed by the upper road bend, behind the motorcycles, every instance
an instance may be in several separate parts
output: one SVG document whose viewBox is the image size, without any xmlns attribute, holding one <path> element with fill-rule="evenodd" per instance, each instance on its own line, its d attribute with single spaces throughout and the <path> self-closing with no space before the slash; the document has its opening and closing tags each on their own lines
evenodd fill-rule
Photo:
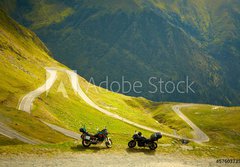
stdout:
<svg viewBox="0 0 240 167">
<path fill-rule="evenodd" d="M 58 80 L 51 88 L 48 96 L 43 94 L 35 103 L 33 115 L 44 119 L 50 123 L 71 129 L 78 132 L 79 128 L 86 126 L 87 130 L 96 133 L 97 129 L 103 129 L 105 126 L 110 132 L 116 145 L 125 144 L 132 136 L 135 130 L 139 128 L 130 126 L 119 120 L 113 119 L 94 108 L 87 105 L 81 98 L 76 96 L 71 90 L 70 82 L 64 82 L 69 98 L 64 98 L 61 93 L 57 92 L 61 78 L 64 79 L 66 74 L 59 73 Z M 64 101 L 64 103 L 62 103 Z M 151 133 L 141 130 L 146 136 Z"/>
</svg>

